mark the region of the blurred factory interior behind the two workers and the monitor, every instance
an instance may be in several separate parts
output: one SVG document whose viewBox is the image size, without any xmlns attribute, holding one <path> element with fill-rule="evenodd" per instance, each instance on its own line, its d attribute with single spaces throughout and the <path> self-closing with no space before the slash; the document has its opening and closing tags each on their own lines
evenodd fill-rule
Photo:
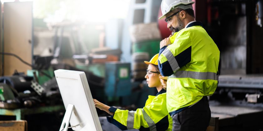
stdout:
<svg viewBox="0 0 263 131">
<path fill-rule="evenodd" d="M 194 0 L 197 21 L 220 50 L 209 97 L 215 130 L 263 130 L 263 0 Z M 65 108 L 54 70 L 85 71 L 92 97 L 142 108 L 149 61 L 171 32 L 162 0 L 1 0 L 0 125 L 57 131 Z M 103 129 L 111 129 L 97 109 Z M 27 126 L 26 126 L 27 125 Z M 0 126 L 1 130 L 1 126 Z M 111 129 L 115 130 L 115 129 Z"/>
</svg>

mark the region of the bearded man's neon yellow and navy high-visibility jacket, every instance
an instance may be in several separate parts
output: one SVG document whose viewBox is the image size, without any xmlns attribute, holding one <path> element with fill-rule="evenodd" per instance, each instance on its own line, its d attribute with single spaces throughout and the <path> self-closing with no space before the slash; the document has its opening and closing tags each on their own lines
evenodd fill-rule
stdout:
<svg viewBox="0 0 263 131">
<path fill-rule="evenodd" d="M 201 22 L 189 24 L 170 40 L 173 44 L 160 49 L 158 66 L 169 76 L 167 109 L 173 115 L 214 93 L 220 52 Z"/>
</svg>

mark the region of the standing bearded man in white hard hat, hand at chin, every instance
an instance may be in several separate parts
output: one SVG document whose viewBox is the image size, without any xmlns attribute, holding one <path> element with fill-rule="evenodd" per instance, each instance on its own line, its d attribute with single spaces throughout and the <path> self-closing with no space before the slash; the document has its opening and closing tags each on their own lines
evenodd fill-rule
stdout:
<svg viewBox="0 0 263 131">
<path fill-rule="evenodd" d="M 218 84 L 219 50 L 194 21 L 192 0 L 162 0 L 162 19 L 174 33 L 160 42 L 158 66 L 167 80 L 167 109 L 173 131 L 204 131 L 211 111 L 207 96 Z M 165 77 L 162 84 L 166 85 Z"/>
</svg>

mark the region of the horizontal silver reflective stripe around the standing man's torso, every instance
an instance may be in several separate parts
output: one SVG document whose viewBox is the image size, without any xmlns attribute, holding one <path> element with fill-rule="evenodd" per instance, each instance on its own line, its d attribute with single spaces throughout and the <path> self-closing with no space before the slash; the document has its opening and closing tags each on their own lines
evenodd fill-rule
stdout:
<svg viewBox="0 0 263 131">
<path fill-rule="evenodd" d="M 218 80 L 218 76 L 213 72 L 194 72 L 194 71 L 177 71 L 169 78 L 193 78 L 199 80 Z"/>
</svg>

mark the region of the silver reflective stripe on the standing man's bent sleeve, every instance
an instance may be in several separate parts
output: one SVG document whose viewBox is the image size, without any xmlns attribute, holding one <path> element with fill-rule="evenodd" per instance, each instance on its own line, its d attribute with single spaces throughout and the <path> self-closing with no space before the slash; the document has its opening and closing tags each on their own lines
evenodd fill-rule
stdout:
<svg viewBox="0 0 263 131">
<path fill-rule="evenodd" d="M 167 58 L 173 72 L 175 72 L 176 70 L 180 69 L 176 59 L 174 58 L 173 56 L 173 53 L 168 49 L 166 48 L 162 54 Z"/>
</svg>

